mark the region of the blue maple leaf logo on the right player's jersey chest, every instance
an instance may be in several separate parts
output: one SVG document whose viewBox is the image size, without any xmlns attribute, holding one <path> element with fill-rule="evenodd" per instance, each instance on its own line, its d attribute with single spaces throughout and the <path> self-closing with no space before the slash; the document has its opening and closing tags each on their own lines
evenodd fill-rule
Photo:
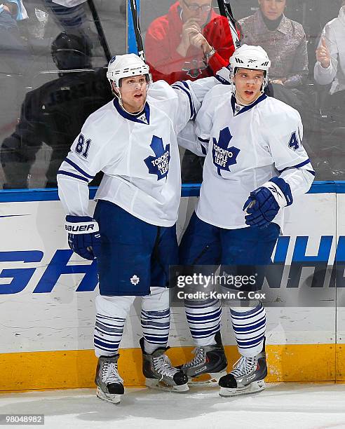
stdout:
<svg viewBox="0 0 345 429">
<path fill-rule="evenodd" d="M 240 153 L 240 149 L 234 146 L 229 147 L 231 139 L 232 135 L 228 127 L 219 132 L 218 142 L 215 137 L 212 137 L 212 158 L 219 176 L 222 176 L 220 173 L 221 170 L 231 171 L 230 165 L 237 163 L 237 156 Z"/>
</svg>

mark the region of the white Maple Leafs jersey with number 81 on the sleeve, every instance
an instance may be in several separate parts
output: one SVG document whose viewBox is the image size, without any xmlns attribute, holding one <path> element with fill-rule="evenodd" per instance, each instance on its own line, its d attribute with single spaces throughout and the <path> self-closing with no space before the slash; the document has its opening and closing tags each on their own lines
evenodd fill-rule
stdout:
<svg viewBox="0 0 345 429">
<path fill-rule="evenodd" d="M 67 214 L 88 216 L 88 182 L 104 177 L 95 199 L 108 200 L 157 226 L 172 226 L 180 204 L 177 134 L 196 111 L 215 78 L 164 81 L 149 88 L 144 113 L 127 114 L 118 100 L 91 114 L 57 172 Z"/>
</svg>

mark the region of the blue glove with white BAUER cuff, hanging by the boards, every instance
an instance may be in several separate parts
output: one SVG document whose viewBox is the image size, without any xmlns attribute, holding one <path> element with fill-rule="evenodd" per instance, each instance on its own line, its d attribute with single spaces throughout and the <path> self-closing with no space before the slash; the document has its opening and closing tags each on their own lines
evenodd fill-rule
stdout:
<svg viewBox="0 0 345 429">
<path fill-rule="evenodd" d="M 84 259 L 95 259 L 100 250 L 100 231 L 90 216 L 66 216 L 69 248 Z"/>
</svg>

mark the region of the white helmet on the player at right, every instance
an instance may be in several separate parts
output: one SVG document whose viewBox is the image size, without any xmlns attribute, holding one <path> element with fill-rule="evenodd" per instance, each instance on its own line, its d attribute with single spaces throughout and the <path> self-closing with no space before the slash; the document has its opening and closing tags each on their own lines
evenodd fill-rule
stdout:
<svg viewBox="0 0 345 429">
<path fill-rule="evenodd" d="M 269 67 L 271 67 L 271 61 L 266 50 L 261 46 L 250 46 L 242 45 L 237 48 L 233 55 L 230 57 L 230 77 L 232 92 L 235 93 L 234 75 L 236 69 L 252 69 L 252 70 L 263 70 L 264 71 L 264 82 L 262 83 L 262 92 L 269 83 Z"/>
</svg>

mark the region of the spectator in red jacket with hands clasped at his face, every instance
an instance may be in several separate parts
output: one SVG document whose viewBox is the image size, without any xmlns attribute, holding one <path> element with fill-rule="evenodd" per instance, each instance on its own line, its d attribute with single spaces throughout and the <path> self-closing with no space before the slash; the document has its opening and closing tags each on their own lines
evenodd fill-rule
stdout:
<svg viewBox="0 0 345 429">
<path fill-rule="evenodd" d="M 154 81 L 193 81 L 229 64 L 234 43 L 211 0 L 180 0 L 149 25 L 145 53 Z"/>
</svg>

